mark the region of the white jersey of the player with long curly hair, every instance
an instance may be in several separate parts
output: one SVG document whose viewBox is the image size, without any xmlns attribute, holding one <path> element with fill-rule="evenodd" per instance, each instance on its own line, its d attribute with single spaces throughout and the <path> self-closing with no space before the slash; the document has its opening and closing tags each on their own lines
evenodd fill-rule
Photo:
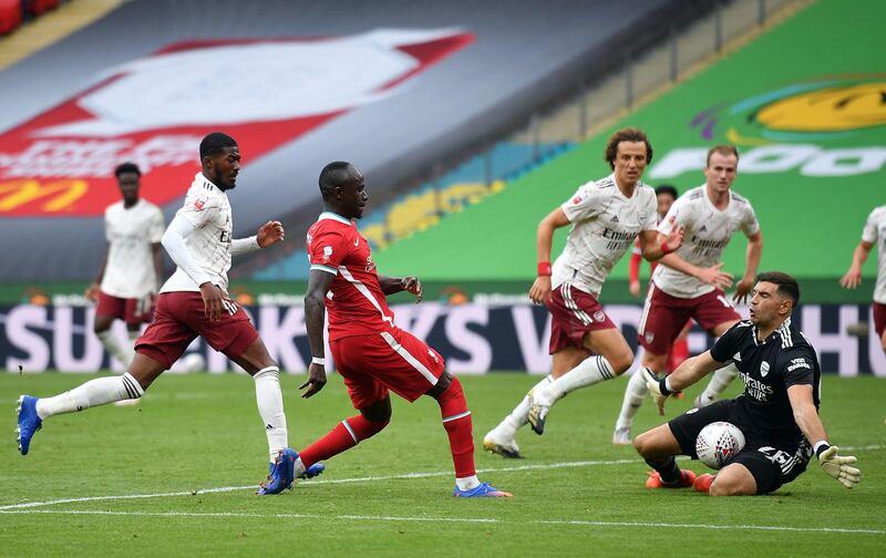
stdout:
<svg viewBox="0 0 886 558">
<path fill-rule="evenodd" d="M 566 248 L 554 262 L 552 287 L 569 282 L 599 297 L 616 261 L 645 230 L 656 230 L 656 193 L 637 183 L 625 197 L 614 175 L 589 182 L 560 208 L 573 224 Z"/>
</svg>

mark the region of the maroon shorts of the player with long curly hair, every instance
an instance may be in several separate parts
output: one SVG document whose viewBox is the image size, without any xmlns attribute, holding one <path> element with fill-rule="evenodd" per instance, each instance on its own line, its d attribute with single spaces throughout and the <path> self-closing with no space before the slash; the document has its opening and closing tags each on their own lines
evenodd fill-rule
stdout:
<svg viewBox="0 0 886 558">
<path fill-rule="evenodd" d="M 550 292 L 547 301 L 550 311 L 550 344 L 554 354 L 567 347 L 585 347 L 588 331 L 615 329 L 616 324 L 602 311 L 602 304 L 587 292 L 565 282 Z"/>
</svg>

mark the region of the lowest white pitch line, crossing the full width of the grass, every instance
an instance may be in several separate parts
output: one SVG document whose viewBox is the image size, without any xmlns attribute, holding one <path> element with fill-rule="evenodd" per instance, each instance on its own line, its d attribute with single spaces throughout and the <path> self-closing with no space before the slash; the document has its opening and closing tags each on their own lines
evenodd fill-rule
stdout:
<svg viewBox="0 0 886 558">
<path fill-rule="evenodd" d="M 257 519 L 327 519 L 333 521 L 412 521 L 412 523 L 460 523 L 460 524 L 519 524 L 526 525 L 564 525 L 576 527 L 651 527 L 651 528 L 691 528 L 717 530 L 765 530 L 790 533 L 844 533 L 857 535 L 886 535 L 884 529 L 854 529 L 843 527 L 792 527 L 782 525 L 717 525 L 717 524 L 671 524 L 652 521 L 593 521 L 583 519 L 535 519 L 507 521 L 491 517 L 401 517 L 401 516 L 371 516 L 371 515 L 320 515 L 320 514 L 248 514 L 239 512 L 112 512 L 104 509 L 4 509 L 0 514 L 29 515 L 95 515 L 95 516 L 134 516 L 134 517 L 239 517 Z"/>
</svg>

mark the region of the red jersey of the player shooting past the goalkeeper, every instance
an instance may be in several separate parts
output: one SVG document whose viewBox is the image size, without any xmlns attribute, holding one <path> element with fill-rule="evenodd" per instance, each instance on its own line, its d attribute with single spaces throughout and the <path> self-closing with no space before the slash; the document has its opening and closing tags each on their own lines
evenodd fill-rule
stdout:
<svg viewBox="0 0 886 558">
<path fill-rule="evenodd" d="M 336 276 L 326 300 L 330 341 L 393 329 L 369 242 L 353 223 L 331 211 L 320 214 L 308 229 L 308 259 L 311 270 Z"/>
</svg>

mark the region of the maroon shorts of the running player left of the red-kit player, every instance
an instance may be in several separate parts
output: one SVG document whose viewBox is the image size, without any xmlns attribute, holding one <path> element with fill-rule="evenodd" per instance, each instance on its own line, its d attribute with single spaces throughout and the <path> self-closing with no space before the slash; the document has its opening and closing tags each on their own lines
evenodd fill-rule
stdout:
<svg viewBox="0 0 886 558">
<path fill-rule="evenodd" d="M 231 303 L 236 308 L 233 314 L 223 309 L 222 320 L 210 322 L 199 292 L 163 292 L 157 297 L 154 322 L 135 341 L 135 351 L 168 369 L 199 335 L 209 347 L 236 360 L 258 339 L 258 331 L 243 308 Z"/>
</svg>

